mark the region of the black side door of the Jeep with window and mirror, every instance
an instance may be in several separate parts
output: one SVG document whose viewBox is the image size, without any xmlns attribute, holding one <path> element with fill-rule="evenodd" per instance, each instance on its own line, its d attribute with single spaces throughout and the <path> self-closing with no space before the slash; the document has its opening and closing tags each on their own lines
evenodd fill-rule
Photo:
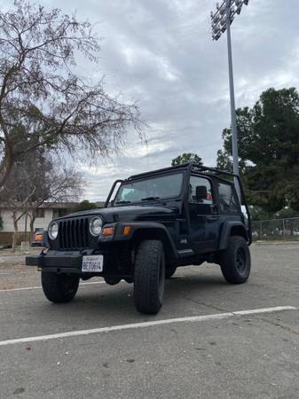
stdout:
<svg viewBox="0 0 299 399">
<path fill-rule="evenodd" d="M 203 190 L 203 192 L 206 192 L 206 198 L 197 198 L 196 187 L 206 187 L 207 190 Z M 197 254 L 216 249 L 219 215 L 216 213 L 213 196 L 212 185 L 208 178 L 190 176 L 190 234 L 193 251 Z"/>
</svg>

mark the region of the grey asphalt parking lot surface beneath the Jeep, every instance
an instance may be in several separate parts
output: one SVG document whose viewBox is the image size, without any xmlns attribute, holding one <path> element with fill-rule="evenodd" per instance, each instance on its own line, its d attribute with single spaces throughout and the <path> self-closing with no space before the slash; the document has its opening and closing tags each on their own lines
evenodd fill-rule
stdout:
<svg viewBox="0 0 299 399">
<path fill-rule="evenodd" d="M 299 244 L 251 254 L 243 286 L 178 269 L 156 317 L 125 282 L 51 304 L 38 272 L 0 256 L 0 397 L 298 398 Z"/>
</svg>

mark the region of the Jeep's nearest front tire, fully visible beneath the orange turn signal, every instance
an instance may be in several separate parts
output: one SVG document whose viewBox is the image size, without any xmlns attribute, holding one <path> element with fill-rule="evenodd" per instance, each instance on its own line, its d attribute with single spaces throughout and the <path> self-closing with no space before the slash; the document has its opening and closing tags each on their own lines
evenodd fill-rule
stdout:
<svg viewBox="0 0 299 399">
<path fill-rule="evenodd" d="M 165 257 L 161 241 L 146 239 L 138 246 L 134 270 L 134 301 L 141 313 L 155 315 L 162 306 Z"/>
</svg>

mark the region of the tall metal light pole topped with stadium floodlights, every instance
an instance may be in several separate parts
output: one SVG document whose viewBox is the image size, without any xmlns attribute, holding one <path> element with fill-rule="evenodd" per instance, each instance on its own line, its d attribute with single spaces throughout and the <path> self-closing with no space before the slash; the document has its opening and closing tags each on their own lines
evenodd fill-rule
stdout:
<svg viewBox="0 0 299 399">
<path fill-rule="evenodd" d="M 230 98 L 231 98 L 231 119 L 232 119 L 232 165 L 233 173 L 239 176 L 238 159 L 238 132 L 236 121 L 236 106 L 234 101 L 234 85 L 232 71 L 232 39 L 231 25 L 236 14 L 240 14 L 243 4 L 248 5 L 249 0 L 223 0 L 222 4 L 216 4 L 216 12 L 211 12 L 212 37 L 213 40 L 220 39 L 226 31 L 227 35 L 227 53 L 228 53 L 228 72 L 230 79 Z M 235 187 L 240 199 L 240 187 L 235 178 Z"/>
</svg>

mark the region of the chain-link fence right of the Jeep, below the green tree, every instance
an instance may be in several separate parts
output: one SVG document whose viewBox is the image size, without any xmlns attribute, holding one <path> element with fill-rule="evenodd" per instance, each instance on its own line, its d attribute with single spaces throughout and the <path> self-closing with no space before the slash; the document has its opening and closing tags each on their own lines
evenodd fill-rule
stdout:
<svg viewBox="0 0 299 399">
<path fill-rule="evenodd" d="M 252 222 L 253 239 L 284 239 L 299 241 L 299 217 Z"/>
</svg>

